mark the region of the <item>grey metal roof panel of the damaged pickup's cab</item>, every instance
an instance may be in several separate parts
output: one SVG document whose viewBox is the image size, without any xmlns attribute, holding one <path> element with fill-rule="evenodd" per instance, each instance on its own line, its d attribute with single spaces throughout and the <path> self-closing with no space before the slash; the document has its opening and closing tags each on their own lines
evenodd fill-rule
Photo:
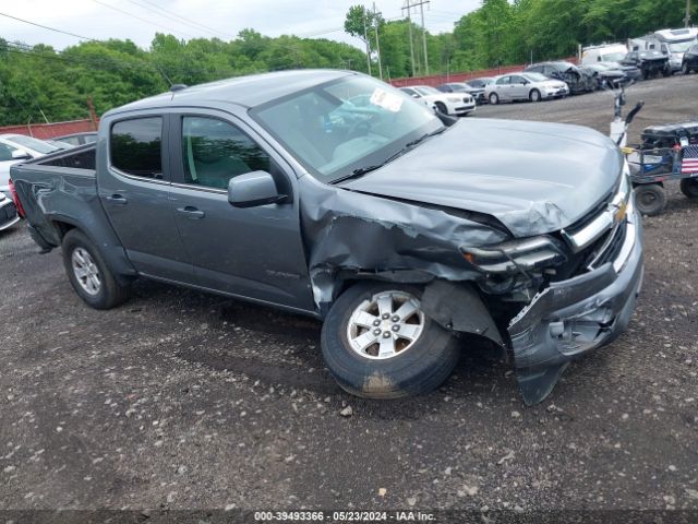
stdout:
<svg viewBox="0 0 698 524">
<path fill-rule="evenodd" d="M 329 69 L 304 69 L 239 76 L 178 88 L 177 91 L 168 91 L 167 93 L 112 109 L 108 115 L 180 105 L 209 106 L 212 102 L 254 107 L 314 85 L 352 74 L 360 73 Z"/>
</svg>

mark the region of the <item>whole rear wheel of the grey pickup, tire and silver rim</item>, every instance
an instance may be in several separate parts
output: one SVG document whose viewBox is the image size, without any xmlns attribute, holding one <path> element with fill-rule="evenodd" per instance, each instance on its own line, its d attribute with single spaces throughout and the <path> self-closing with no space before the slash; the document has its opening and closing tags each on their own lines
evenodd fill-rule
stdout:
<svg viewBox="0 0 698 524">
<path fill-rule="evenodd" d="M 68 278 L 87 306 L 111 309 L 129 298 L 129 287 L 117 282 L 101 253 L 84 233 L 79 229 L 68 231 L 61 250 Z"/>
</svg>

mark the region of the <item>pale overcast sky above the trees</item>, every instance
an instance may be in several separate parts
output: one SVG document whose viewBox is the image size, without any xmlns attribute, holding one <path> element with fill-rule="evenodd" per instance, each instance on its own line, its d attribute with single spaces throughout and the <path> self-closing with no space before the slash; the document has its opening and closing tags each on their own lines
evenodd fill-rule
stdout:
<svg viewBox="0 0 698 524">
<path fill-rule="evenodd" d="M 378 0 L 376 10 L 386 20 L 406 14 L 407 0 Z M 412 4 L 418 0 L 411 0 Z M 266 36 L 294 34 L 329 38 L 360 47 L 344 32 L 351 5 L 361 0 L 0 0 L 0 13 L 24 19 L 75 35 L 131 39 L 147 49 L 155 33 L 179 38 L 219 37 L 230 40 L 251 27 Z M 454 22 L 477 9 L 480 0 L 430 0 L 424 4 L 424 25 L 430 33 L 452 31 Z M 371 8 L 372 2 L 365 0 Z M 419 8 L 412 16 L 421 22 Z M 48 44 L 63 49 L 80 38 L 28 25 L 0 15 L 0 37 L 29 45 Z"/>
</svg>

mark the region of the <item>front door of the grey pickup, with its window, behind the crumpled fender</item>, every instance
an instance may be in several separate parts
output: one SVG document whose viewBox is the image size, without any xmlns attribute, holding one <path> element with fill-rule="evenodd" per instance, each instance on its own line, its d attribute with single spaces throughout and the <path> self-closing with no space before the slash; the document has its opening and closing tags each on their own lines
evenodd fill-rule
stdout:
<svg viewBox="0 0 698 524">
<path fill-rule="evenodd" d="M 215 110 L 172 116 L 172 211 L 200 286 L 312 311 L 296 175 L 239 119 Z M 286 203 L 233 207 L 231 178 L 272 174 Z"/>
</svg>

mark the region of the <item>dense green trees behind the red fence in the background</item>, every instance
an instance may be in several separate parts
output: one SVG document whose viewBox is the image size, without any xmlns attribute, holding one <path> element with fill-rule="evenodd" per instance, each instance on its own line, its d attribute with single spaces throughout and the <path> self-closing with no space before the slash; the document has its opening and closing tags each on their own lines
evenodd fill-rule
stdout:
<svg viewBox="0 0 698 524">
<path fill-rule="evenodd" d="M 385 80 L 492 69 L 576 53 L 578 44 L 623 40 L 683 25 L 685 0 L 483 0 L 454 31 L 422 34 L 414 19 L 386 21 L 361 5 L 349 9 L 345 31 L 362 49 L 323 38 L 264 36 L 244 29 L 230 41 L 182 40 L 156 34 L 149 49 L 130 40 L 83 41 L 57 51 L 0 38 L 0 126 L 87 118 L 166 91 L 265 71 L 336 68 Z M 698 20 L 698 2 L 693 19 Z M 410 46 L 410 36 L 412 46 Z M 423 41 L 426 43 L 424 58 Z"/>
</svg>

